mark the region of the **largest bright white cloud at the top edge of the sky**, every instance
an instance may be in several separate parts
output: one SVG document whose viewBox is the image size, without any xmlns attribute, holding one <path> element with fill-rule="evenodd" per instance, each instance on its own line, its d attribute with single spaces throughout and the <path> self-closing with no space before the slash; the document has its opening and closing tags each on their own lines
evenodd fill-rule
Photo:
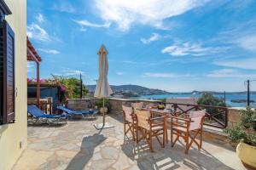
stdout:
<svg viewBox="0 0 256 170">
<path fill-rule="evenodd" d="M 160 28 L 163 21 L 207 3 L 208 0 L 95 0 L 102 20 L 114 22 L 120 31 L 134 23 Z"/>
</svg>

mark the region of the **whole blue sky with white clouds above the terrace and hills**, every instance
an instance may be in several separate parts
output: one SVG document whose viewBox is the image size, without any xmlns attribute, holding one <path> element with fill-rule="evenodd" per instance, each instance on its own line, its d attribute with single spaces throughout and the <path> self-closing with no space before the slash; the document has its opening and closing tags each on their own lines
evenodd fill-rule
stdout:
<svg viewBox="0 0 256 170">
<path fill-rule="evenodd" d="M 44 78 L 81 72 L 95 84 L 103 43 L 110 84 L 244 91 L 256 79 L 255 8 L 253 0 L 28 0 L 27 36 Z"/>
</svg>

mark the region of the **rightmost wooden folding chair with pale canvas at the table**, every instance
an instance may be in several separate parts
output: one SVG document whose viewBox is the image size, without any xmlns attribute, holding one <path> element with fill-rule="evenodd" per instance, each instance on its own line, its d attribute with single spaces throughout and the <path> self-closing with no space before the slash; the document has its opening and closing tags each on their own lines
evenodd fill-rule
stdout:
<svg viewBox="0 0 256 170">
<path fill-rule="evenodd" d="M 202 144 L 202 129 L 203 122 L 206 115 L 206 110 L 202 111 L 190 111 L 185 118 L 172 116 L 171 117 L 171 145 L 172 147 L 177 142 L 179 137 L 182 137 L 185 141 L 185 154 L 188 154 L 190 146 L 195 143 L 198 146 L 198 150 L 201 149 Z M 173 134 L 176 134 L 176 138 L 173 141 Z M 195 140 L 197 135 L 200 135 L 199 143 Z M 190 141 L 189 141 L 190 139 Z"/>
</svg>

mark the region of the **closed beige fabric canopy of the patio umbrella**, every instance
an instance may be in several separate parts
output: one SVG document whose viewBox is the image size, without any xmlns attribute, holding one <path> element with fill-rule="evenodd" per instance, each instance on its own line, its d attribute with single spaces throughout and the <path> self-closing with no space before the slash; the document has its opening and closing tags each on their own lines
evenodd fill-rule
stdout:
<svg viewBox="0 0 256 170">
<path fill-rule="evenodd" d="M 99 55 L 99 78 L 97 80 L 94 97 L 110 97 L 113 91 L 108 84 L 108 51 L 103 44 L 97 54 Z"/>
</svg>

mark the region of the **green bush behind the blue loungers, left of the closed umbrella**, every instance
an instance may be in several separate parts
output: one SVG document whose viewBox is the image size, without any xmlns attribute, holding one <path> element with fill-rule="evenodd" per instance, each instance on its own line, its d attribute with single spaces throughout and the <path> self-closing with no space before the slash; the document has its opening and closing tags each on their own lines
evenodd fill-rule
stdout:
<svg viewBox="0 0 256 170">
<path fill-rule="evenodd" d="M 54 81 L 58 82 L 61 87 L 65 88 L 65 91 L 61 95 L 61 100 L 65 99 L 79 99 L 80 98 L 80 80 L 73 77 L 56 77 L 53 76 Z M 88 93 L 88 89 L 85 85 L 82 85 L 83 96 Z M 64 98 L 64 99 L 63 99 Z"/>
</svg>

